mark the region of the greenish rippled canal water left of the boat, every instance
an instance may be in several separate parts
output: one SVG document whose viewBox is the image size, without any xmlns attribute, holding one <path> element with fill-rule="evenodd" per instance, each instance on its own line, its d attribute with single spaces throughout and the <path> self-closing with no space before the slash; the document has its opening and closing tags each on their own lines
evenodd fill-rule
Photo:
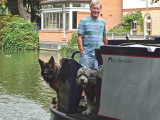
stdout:
<svg viewBox="0 0 160 120">
<path fill-rule="evenodd" d="M 0 120 L 49 120 L 55 92 L 40 75 L 38 58 L 61 56 L 51 51 L 0 50 Z"/>
</svg>

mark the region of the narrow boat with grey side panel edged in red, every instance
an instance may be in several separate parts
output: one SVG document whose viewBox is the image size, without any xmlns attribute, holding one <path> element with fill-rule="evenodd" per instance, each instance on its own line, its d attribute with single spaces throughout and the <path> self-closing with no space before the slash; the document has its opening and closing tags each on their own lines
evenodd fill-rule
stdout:
<svg viewBox="0 0 160 120">
<path fill-rule="evenodd" d="M 96 108 L 82 115 L 82 88 L 74 59 L 62 59 L 58 108 L 50 106 L 51 120 L 160 120 L 160 41 L 112 40 L 96 49 L 101 66 L 97 79 Z"/>
</svg>

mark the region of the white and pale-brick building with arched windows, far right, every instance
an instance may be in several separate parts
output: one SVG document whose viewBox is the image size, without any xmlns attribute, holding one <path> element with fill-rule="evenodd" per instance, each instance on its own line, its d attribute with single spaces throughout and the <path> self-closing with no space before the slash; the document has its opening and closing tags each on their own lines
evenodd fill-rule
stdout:
<svg viewBox="0 0 160 120">
<path fill-rule="evenodd" d="M 144 18 L 145 35 L 160 35 L 160 4 L 152 0 L 123 0 L 123 15 L 140 10 Z M 132 25 L 131 34 L 137 34 L 137 21 Z M 135 31 L 135 32 L 134 32 Z"/>
</svg>

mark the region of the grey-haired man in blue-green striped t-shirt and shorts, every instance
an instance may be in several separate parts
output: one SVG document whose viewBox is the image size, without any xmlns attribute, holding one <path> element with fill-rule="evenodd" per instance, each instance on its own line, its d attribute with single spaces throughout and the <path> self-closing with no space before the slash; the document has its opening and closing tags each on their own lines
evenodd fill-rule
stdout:
<svg viewBox="0 0 160 120">
<path fill-rule="evenodd" d="M 100 48 L 102 41 L 105 45 L 108 43 L 106 23 L 102 18 L 99 18 L 101 9 L 102 4 L 99 1 L 91 2 L 90 16 L 81 19 L 78 26 L 79 63 L 91 69 L 98 68 L 95 48 Z"/>
</svg>

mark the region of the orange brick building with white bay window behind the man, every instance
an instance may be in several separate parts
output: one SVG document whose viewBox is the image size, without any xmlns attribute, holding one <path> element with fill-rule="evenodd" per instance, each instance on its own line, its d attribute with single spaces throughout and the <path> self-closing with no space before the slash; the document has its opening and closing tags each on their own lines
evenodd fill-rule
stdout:
<svg viewBox="0 0 160 120">
<path fill-rule="evenodd" d="M 107 30 L 119 23 L 122 17 L 122 0 L 100 0 L 103 9 L 100 17 L 106 20 Z M 121 1 L 121 2 L 120 2 Z M 47 0 L 41 2 L 40 41 L 68 42 L 77 31 L 81 18 L 90 15 L 91 0 Z M 112 22 L 110 22 L 112 21 Z"/>
</svg>

